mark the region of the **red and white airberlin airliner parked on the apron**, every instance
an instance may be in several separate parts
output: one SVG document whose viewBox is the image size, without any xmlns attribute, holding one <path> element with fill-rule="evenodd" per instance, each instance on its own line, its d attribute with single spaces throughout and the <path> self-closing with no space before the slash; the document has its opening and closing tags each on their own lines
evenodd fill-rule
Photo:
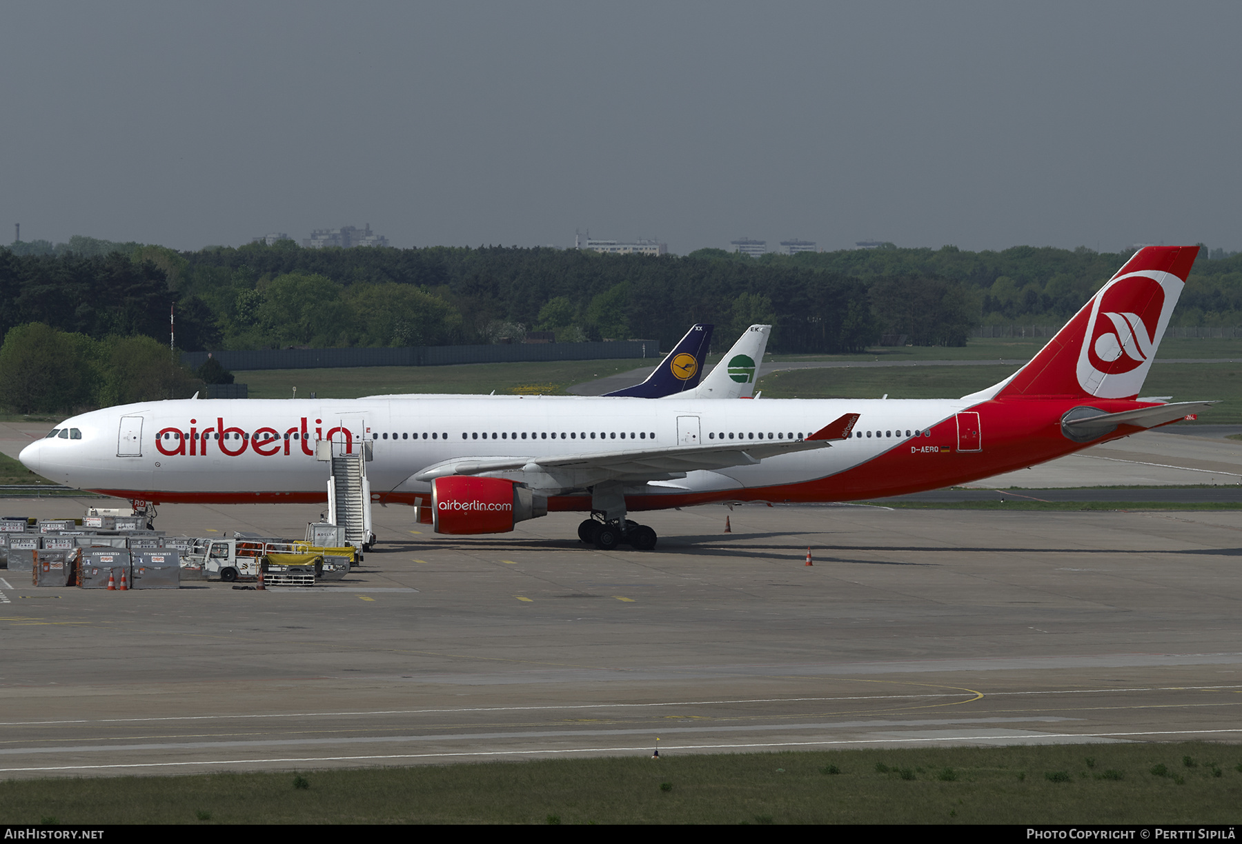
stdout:
<svg viewBox="0 0 1242 844">
<path fill-rule="evenodd" d="M 21 452 L 45 478 L 158 503 L 323 503 L 317 448 L 369 453 L 371 496 L 442 534 L 589 513 L 579 539 L 656 545 L 630 513 L 850 501 L 960 484 L 1191 417 L 1139 398 L 1199 247 L 1145 247 L 1017 372 L 945 400 L 175 400 L 66 420 Z M 761 326 L 766 328 L 766 326 Z"/>
</svg>

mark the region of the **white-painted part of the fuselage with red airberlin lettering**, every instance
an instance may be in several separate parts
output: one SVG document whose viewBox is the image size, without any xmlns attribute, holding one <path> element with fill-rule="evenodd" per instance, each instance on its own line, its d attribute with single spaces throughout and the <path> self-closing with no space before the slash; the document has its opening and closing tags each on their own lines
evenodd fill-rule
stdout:
<svg viewBox="0 0 1242 844">
<path fill-rule="evenodd" d="M 60 428 L 79 432 L 79 438 L 36 441 L 21 459 L 39 474 L 79 489 L 233 493 L 245 500 L 255 494 L 322 493 L 328 473 L 315 459 L 314 443 L 332 441 L 337 451 L 356 451 L 368 442 L 373 493 L 424 493 L 428 484 L 411 475 L 450 459 L 537 460 L 699 443 L 780 442 L 806 437 L 842 413 L 861 415 L 854 432 L 863 436 L 832 447 L 770 457 L 756 465 L 691 472 L 645 489 L 719 492 L 836 474 L 918 437 L 970 403 L 560 396 L 180 400 L 76 416 Z"/>
</svg>

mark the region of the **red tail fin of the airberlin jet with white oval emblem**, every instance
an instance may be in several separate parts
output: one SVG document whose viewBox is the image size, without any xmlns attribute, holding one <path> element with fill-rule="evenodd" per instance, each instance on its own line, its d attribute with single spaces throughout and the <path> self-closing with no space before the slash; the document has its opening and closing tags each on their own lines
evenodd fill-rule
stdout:
<svg viewBox="0 0 1242 844">
<path fill-rule="evenodd" d="M 1138 396 L 1197 254 L 1197 246 L 1139 249 L 996 397 Z"/>
</svg>

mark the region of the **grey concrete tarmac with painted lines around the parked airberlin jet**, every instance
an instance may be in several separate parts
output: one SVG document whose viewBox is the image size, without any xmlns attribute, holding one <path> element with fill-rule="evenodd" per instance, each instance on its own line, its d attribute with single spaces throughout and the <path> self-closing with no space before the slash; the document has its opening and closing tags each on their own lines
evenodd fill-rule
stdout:
<svg viewBox="0 0 1242 844">
<path fill-rule="evenodd" d="M 47 427 L 0 426 L 0 451 Z M 1233 494 L 1237 441 L 1187 431 L 1013 474 Z M 156 526 L 301 536 L 320 511 Z M 1237 511 L 717 505 L 642 514 L 651 552 L 585 546 L 573 514 L 478 537 L 411 516 L 376 508 L 364 565 L 309 590 L 0 571 L 0 777 L 1242 738 Z"/>
</svg>

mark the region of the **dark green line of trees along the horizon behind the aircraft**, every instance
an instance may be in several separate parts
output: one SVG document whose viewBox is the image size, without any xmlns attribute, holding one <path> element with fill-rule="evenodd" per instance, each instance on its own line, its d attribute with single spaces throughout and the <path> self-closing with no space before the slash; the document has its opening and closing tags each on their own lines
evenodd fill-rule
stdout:
<svg viewBox="0 0 1242 844">
<path fill-rule="evenodd" d="M 753 323 L 775 352 L 857 351 L 881 335 L 961 345 L 980 323 L 1056 323 L 1129 257 L 1051 247 L 609 256 L 481 246 L 309 249 L 293 241 L 176 252 L 73 237 L 0 248 L 0 329 L 185 350 L 655 339 L 715 323 L 717 350 Z M 1242 254 L 1205 249 L 1175 324 L 1242 324 Z"/>
</svg>

